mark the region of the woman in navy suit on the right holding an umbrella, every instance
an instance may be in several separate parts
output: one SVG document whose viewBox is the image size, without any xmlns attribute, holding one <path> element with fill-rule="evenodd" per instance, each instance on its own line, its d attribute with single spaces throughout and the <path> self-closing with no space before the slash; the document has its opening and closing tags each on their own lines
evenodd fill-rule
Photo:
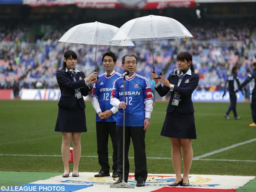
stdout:
<svg viewBox="0 0 256 192">
<path fill-rule="evenodd" d="M 189 186 L 188 174 L 193 159 L 191 142 L 192 139 L 197 138 L 192 93 L 197 88 L 199 76 L 194 73 L 192 55 L 189 52 L 181 52 L 176 59 L 178 69 L 170 73 L 168 78 L 161 75 L 161 79 L 156 79 L 157 75 L 154 71 L 152 71 L 152 78 L 156 82 L 155 89 L 161 97 L 171 91 L 161 131 L 162 136 L 170 138 L 172 147 L 171 157 L 176 178 L 170 186 Z M 181 147 L 184 163 L 183 178 L 181 177 Z"/>
</svg>

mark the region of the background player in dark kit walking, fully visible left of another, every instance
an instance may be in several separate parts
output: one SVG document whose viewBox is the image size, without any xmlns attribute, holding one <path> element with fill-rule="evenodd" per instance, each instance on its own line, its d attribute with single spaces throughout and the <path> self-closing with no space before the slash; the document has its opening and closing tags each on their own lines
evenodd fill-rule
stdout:
<svg viewBox="0 0 256 192">
<path fill-rule="evenodd" d="M 226 83 L 225 91 L 223 94 L 223 97 L 227 90 L 229 90 L 229 96 L 230 96 L 230 106 L 228 108 L 228 111 L 224 114 L 224 117 L 226 119 L 230 119 L 228 114 L 230 111 L 233 111 L 235 119 L 241 119 L 239 116 L 237 116 L 237 95 L 236 92 L 238 91 L 238 87 L 240 85 L 239 78 L 237 76 L 238 69 L 237 66 L 234 66 L 232 68 L 232 75 L 228 76 L 228 81 Z"/>
</svg>

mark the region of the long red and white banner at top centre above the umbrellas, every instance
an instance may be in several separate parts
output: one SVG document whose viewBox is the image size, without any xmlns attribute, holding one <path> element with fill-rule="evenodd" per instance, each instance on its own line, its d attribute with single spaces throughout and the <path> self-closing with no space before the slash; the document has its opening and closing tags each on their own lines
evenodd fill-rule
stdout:
<svg viewBox="0 0 256 192">
<path fill-rule="evenodd" d="M 194 0 L 75 0 L 75 4 L 83 9 L 166 9 L 197 7 Z"/>
</svg>

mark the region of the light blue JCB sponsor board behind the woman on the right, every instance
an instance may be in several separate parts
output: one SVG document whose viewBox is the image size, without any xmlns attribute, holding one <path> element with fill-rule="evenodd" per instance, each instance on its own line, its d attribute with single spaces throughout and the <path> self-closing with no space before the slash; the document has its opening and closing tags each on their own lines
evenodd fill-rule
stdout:
<svg viewBox="0 0 256 192">
<path fill-rule="evenodd" d="M 206 102 L 229 102 L 229 92 L 226 92 L 223 97 L 224 91 L 194 91 L 192 94 L 192 101 L 206 101 Z M 241 91 L 237 92 L 237 101 L 243 102 L 244 95 Z"/>
</svg>

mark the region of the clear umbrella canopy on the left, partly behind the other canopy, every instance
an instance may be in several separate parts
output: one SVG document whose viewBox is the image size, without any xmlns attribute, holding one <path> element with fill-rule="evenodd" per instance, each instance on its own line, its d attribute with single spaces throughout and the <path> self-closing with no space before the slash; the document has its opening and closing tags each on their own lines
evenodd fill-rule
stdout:
<svg viewBox="0 0 256 192">
<path fill-rule="evenodd" d="M 110 42 L 118 27 L 98 21 L 73 26 L 60 39 L 64 43 L 82 43 L 90 45 L 134 46 L 133 42 Z"/>
</svg>

